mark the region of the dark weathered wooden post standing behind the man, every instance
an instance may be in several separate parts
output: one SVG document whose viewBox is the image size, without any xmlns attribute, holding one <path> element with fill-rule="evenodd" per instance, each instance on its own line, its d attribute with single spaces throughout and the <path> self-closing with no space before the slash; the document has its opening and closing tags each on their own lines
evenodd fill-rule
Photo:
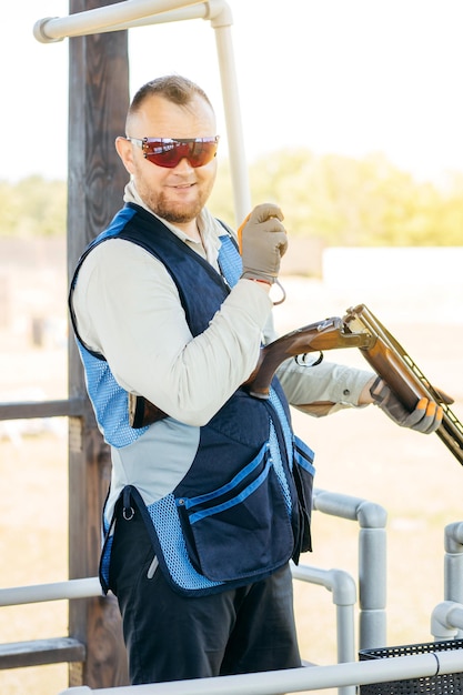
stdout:
<svg viewBox="0 0 463 695">
<path fill-rule="evenodd" d="M 81 12 L 111 0 L 70 0 Z M 127 31 L 69 40 L 68 270 L 72 274 L 87 245 L 122 205 L 128 175 L 114 149 L 124 133 L 129 105 Z M 69 345 L 69 395 L 84 396 L 82 367 Z M 69 576 L 98 574 L 101 510 L 110 480 L 108 446 L 85 399 L 83 417 L 70 417 Z M 69 633 L 87 645 L 82 664 L 71 664 L 69 685 L 92 688 L 128 684 L 127 654 L 113 597 L 70 602 Z"/>
</svg>

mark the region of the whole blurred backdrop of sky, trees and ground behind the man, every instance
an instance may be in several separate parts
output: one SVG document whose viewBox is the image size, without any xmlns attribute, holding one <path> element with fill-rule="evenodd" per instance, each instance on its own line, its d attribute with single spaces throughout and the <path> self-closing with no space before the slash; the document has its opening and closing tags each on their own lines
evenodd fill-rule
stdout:
<svg viewBox="0 0 463 695">
<path fill-rule="evenodd" d="M 230 0 L 252 200 L 278 202 L 290 250 L 280 332 L 365 303 L 463 419 L 463 100 L 459 0 Z M 32 37 L 68 3 L 10 3 L 0 44 L 0 401 L 67 397 L 68 42 Z M 213 32 L 194 20 L 130 33 L 131 89 L 183 73 L 217 104 L 220 172 L 210 208 L 233 224 Z M 326 360 L 368 369 L 358 351 Z M 462 521 L 463 471 L 437 436 L 369 407 L 315 420 L 319 488 L 387 510 L 387 643 L 431 639 L 443 600 L 443 533 Z M 67 578 L 67 421 L 0 423 L 1 586 Z M 356 577 L 351 522 L 313 520 L 305 564 Z M 296 583 L 304 658 L 335 661 L 330 594 Z M 0 612 L 0 641 L 67 634 L 66 604 Z M 64 665 L 0 672 L 8 695 L 67 686 Z M 326 692 L 326 691 L 325 691 Z"/>
</svg>

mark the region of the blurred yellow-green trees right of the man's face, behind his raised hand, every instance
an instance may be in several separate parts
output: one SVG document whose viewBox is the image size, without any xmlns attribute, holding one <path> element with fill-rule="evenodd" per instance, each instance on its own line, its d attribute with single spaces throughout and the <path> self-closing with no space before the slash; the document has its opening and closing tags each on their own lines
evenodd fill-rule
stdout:
<svg viewBox="0 0 463 695">
<path fill-rule="evenodd" d="M 222 163 L 212 201 L 214 213 L 233 224 L 228 173 Z M 355 160 L 284 150 L 253 162 L 250 181 L 253 202 L 278 202 L 294 236 L 346 246 L 462 243 L 463 174 L 443 191 L 382 154 Z"/>
</svg>

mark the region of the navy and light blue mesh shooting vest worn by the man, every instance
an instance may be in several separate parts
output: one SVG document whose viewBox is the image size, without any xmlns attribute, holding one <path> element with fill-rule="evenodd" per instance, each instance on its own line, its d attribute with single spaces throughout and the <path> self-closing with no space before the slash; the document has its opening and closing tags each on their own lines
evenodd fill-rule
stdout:
<svg viewBox="0 0 463 695">
<path fill-rule="evenodd" d="M 208 328 L 242 272 L 229 234 L 220 238 L 219 253 L 225 282 L 160 220 L 129 203 L 83 253 L 71 294 L 88 253 L 114 238 L 142 246 L 163 263 L 193 336 Z M 71 316 L 99 425 L 113 445 L 133 444 L 148 427 L 130 427 L 127 392 L 115 383 L 104 357 L 79 339 L 72 308 Z M 105 394 L 111 394 L 111 406 Z M 292 432 L 288 402 L 274 377 L 269 400 L 238 389 L 200 427 L 193 463 L 172 493 L 145 505 L 139 491 L 128 485 L 120 502 L 125 511 L 142 514 L 172 587 L 185 595 L 210 594 L 262 580 L 311 550 L 312 463 L 313 452 Z M 104 530 L 100 578 L 108 591 L 112 535 L 108 524 Z"/>
</svg>

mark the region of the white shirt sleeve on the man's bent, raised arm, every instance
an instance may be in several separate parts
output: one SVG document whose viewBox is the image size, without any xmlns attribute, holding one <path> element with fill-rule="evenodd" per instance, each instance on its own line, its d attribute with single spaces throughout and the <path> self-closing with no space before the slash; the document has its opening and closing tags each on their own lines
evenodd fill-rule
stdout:
<svg viewBox="0 0 463 695">
<path fill-rule="evenodd" d="M 205 424 L 252 373 L 272 302 L 240 280 L 193 339 L 164 265 L 124 240 L 109 240 L 79 271 L 73 309 L 80 338 L 118 383 L 172 417 Z"/>
</svg>

